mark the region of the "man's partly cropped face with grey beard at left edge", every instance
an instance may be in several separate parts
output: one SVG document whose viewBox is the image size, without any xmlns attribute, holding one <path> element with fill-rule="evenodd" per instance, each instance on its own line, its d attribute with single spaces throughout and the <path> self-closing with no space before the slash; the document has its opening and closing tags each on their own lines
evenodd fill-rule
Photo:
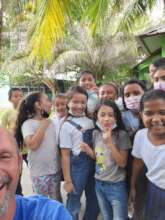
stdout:
<svg viewBox="0 0 165 220">
<path fill-rule="evenodd" d="M 15 203 L 15 191 L 21 171 L 21 158 L 14 139 L 0 128 L 0 217 Z"/>
</svg>

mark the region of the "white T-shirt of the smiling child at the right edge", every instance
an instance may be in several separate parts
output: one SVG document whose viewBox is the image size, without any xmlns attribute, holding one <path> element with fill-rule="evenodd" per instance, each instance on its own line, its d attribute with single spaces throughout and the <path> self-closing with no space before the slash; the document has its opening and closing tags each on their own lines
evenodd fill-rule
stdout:
<svg viewBox="0 0 165 220">
<path fill-rule="evenodd" d="M 142 159 L 147 167 L 147 178 L 165 190 L 165 144 L 155 146 L 148 139 L 148 129 L 135 135 L 132 155 Z"/>
</svg>

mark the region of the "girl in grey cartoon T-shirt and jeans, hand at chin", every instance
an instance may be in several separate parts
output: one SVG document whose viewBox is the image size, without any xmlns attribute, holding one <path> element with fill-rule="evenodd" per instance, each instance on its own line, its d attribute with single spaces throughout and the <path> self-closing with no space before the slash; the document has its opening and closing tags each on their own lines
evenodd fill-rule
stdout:
<svg viewBox="0 0 165 220">
<path fill-rule="evenodd" d="M 101 102 L 97 112 L 97 129 L 93 133 L 95 148 L 92 156 L 89 146 L 83 150 L 96 158 L 96 194 L 103 220 L 127 219 L 127 192 L 125 169 L 130 139 L 121 119 L 121 113 L 112 101 Z"/>
</svg>

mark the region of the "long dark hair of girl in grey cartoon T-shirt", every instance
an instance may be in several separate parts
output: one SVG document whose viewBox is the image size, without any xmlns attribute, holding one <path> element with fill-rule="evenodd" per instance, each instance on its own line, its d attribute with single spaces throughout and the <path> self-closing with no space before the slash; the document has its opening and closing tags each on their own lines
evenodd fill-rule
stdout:
<svg viewBox="0 0 165 220">
<path fill-rule="evenodd" d="M 102 100 L 100 102 L 97 110 L 95 111 L 95 120 L 97 119 L 97 114 L 103 105 L 111 107 L 113 109 L 114 114 L 115 114 L 115 118 L 116 118 L 116 124 L 117 124 L 116 129 L 117 130 L 125 130 L 125 126 L 124 126 L 124 123 L 123 123 L 122 117 L 121 117 L 121 112 L 114 101 Z"/>
</svg>

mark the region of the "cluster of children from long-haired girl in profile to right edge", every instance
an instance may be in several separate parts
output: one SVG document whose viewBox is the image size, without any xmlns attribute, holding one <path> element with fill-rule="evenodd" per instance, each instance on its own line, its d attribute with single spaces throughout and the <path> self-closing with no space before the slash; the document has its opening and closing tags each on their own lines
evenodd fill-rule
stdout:
<svg viewBox="0 0 165 220">
<path fill-rule="evenodd" d="M 52 103 L 33 92 L 20 103 L 14 135 L 28 148 L 28 167 L 37 194 L 62 201 L 79 219 L 85 192 L 83 220 L 165 219 L 165 68 L 156 69 L 153 89 L 138 80 L 99 88 L 90 71 L 78 85 L 58 94 Z M 144 128 L 145 127 L 145 128 Z M 132 149 L 133 148 L 133 149 Z M 134 158 L 134 159 L 133 159 Z"/>
</svg>

